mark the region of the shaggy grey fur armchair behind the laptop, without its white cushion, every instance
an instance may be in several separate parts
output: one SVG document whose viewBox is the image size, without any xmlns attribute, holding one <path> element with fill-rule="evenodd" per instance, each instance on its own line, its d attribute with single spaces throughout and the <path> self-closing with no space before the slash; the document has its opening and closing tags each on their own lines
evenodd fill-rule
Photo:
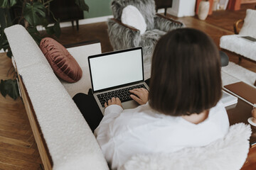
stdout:
<svg viewBox="0 0 256 170">
<path fill-rule="evenodd" d="M 135 6 L 142 13 L 146 22 L 144 34 L 121 22 L 122 10 L 128 5 Z M 162 35 L 184 26 L 181 22 L 156 14 L 154 0 L 112 0 L 111 7 L 114 18 L 108 21 L 108 34 L 112 47 L 114 50 L 123 50 L 142 46 L 144 63 L 151 62 L 154 46 Z"/>
</svg>

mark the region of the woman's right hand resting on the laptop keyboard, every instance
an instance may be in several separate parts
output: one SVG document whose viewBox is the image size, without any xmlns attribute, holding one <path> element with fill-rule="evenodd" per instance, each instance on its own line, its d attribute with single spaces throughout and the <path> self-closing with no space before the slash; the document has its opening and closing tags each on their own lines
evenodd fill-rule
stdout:
<svg viewBox="0 0 256 170">
<path fill-rule="evenodd" d="M 132 93 L 130 96 L 134 101 L 137 101 L 140 105 L 146 104 L 149 100 L 149 91 L 144 88 L 130 90 Z M 135 95 L 133 95 L 135 94 Z"/>
</svg>

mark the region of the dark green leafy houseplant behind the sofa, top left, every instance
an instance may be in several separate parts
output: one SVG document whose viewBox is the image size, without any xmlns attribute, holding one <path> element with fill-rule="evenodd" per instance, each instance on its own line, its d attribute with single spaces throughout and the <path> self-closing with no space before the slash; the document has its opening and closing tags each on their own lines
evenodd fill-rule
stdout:
<svg viewBox="0 0 256 170">
<path fill-rule="evenodd" d="M 0 16 L 0 50 L 3 49 L 8 57 L 11 57 L 11 48 L 9 46 L 6 35 L 4 34 L 4 28 L 12 26 L 14 24 L 21 24 L 28 30 L 32 38 L 39 45 L 43 35 L 38 32 L 37 26 L 43 26 L 46 29 L 46 33 L 49 35 L 55 35 L 57 38 L 60 36 L 60 21 L 53 16 L 50 11 L 50 2 L 54 0 L 0 0 L 1 13 Z M 75 0 L 82 11 L 89 11 L 89 7 L 85 4 L 84 0 Z M 10 11 L 14 10 L 16 18 L 11 19 Z M 53 26 L 49 26 L 48 16 L 52 16 L 55 20 Z M 0 92 L 5 97 L 7 94 L 11 98 L 16 99 L 18 97 L 18 85 L 14 79 L 7 79 L 0 81 Z"/>
</svg>

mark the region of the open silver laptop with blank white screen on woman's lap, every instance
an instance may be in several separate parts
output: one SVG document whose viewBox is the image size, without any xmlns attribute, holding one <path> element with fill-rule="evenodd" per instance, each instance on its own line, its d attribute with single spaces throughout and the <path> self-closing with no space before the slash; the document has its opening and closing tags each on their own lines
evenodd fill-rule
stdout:
<svg viewBox="0 0 256 170">
<path fill-rule="evenodd" d="M 118 97 L 124 109 L 139 104 L 130 98 L 129 90 L 149 86 L 144 82 L 142 47 L 106 52 L 88 57 L 92 94 L 104 114 L 104 104 Z"/>
</svg>

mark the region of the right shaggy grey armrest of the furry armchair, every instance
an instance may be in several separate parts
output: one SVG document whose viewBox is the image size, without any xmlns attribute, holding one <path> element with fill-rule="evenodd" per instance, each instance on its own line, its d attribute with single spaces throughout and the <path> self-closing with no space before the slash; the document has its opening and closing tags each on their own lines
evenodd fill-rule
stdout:
<svg viewBox="0 0 256 170">
<path fill-rule="evenodd" d="M 173 20 L 171 18 L 168 18 L 166 16 L 162 16 L 159 13 L 156 13 L 156 16 L 154 17 L 154 28 L 163 30 L 165 32 L 168 32 L 170 30 L 174 30 L 176 28 L 183 28 L 184 24 Z"/>
</svg>

